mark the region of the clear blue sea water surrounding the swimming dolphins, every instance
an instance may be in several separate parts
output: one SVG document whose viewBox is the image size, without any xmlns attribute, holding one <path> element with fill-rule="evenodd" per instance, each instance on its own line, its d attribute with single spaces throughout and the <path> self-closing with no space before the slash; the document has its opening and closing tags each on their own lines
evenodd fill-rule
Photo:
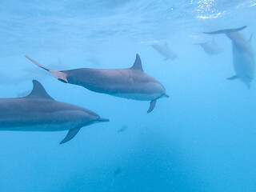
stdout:
<svg viewBox="0 0 256 192">
<path fill-rule="evenodd" d="M 54 99 L 110 122 L 63 145 L 66 131 L 2 131 L 0 191 L 256 191 L 256 83 L 226 80 L 234 69 L 224 34 L 214 37 L 222 54 L 192 45 L 211 41 L 202 31 L 245 25 L 249 38 L 255 18 L 255 0 L 2 0 L 0 97 L 38 79 Z M 178 59 L 150 47 L 165 42 Z M 170 95 L 150 114 L 149 102 L 59 82 L 24 57 L 55 70 L 126 68 L 137 53 Z"/>
</svg>

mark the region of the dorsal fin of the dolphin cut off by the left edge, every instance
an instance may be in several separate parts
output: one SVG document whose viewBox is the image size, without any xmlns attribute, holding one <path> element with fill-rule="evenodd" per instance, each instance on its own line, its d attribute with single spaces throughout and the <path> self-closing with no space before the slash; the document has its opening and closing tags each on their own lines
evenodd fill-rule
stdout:
<svg viewBox="0 0 256 192">
<path fill-rule="evenodd" d="M 45 88 L 43 88 L 42 84 L 37 80 L 33 80 L 33 90 L 28 96 L 26 96 L 26 98 L 44 98 L 54 100 L 54 98 L 51 98 L 50 95 L 47 94 Z"/>
</svg>

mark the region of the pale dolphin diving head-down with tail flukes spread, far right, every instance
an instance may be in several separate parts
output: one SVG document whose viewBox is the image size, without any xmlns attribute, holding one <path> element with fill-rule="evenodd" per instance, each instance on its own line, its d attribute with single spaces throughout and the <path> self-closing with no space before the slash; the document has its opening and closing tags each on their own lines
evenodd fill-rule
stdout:
<svg viewBox="0 0 256 192">
<path fill-rule="evenodd" d="M 254 50 L 245 36 L 239 32 L 245 29 L 242 26 L 238 29 L 217 30 L 214 32 L 204 32 L 205 34 L 226 34 L 232 41 L 233 47 L 233 65 L 236 75 L 228 78 L 234 80 L 239 78 L 250 89 L 250 82 L 254 79 L 255 57 Z"/>
</svg>

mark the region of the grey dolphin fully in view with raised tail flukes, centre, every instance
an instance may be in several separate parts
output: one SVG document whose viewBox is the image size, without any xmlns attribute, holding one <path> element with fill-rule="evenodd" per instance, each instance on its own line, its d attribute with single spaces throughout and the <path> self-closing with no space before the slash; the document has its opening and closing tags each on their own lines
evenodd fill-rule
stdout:
<svg viewBox="0 0 256 192">
<path fill-rule="evenodd" d="M 61 82 L 83 86 L 97 93 L 140 101 L 151 101 L 147 113 L 154 110 L 158 98 L 169 97 L 160 82 L 144 73 L 141 58 L 136 55 L 134 66 L 126 69 L 50 70 L 26 56 L 31 62 L 50 71 Z"/>
</svg>

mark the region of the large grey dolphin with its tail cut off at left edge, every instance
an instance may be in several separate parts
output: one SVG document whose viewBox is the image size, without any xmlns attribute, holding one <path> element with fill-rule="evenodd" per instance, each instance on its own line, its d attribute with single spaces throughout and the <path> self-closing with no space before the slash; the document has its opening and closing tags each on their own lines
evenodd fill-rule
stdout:
<svg viewBox="0 0 256 192">
<path fill-rule="evenodd" d="M 80 106 L 55 101 L 36 80 L 33 85 L 26 97 L 0 98 L 0 130 L 69 130 L 62 144 L 74 138 L 82 126 L 109 121 Z"/>
</svg>

